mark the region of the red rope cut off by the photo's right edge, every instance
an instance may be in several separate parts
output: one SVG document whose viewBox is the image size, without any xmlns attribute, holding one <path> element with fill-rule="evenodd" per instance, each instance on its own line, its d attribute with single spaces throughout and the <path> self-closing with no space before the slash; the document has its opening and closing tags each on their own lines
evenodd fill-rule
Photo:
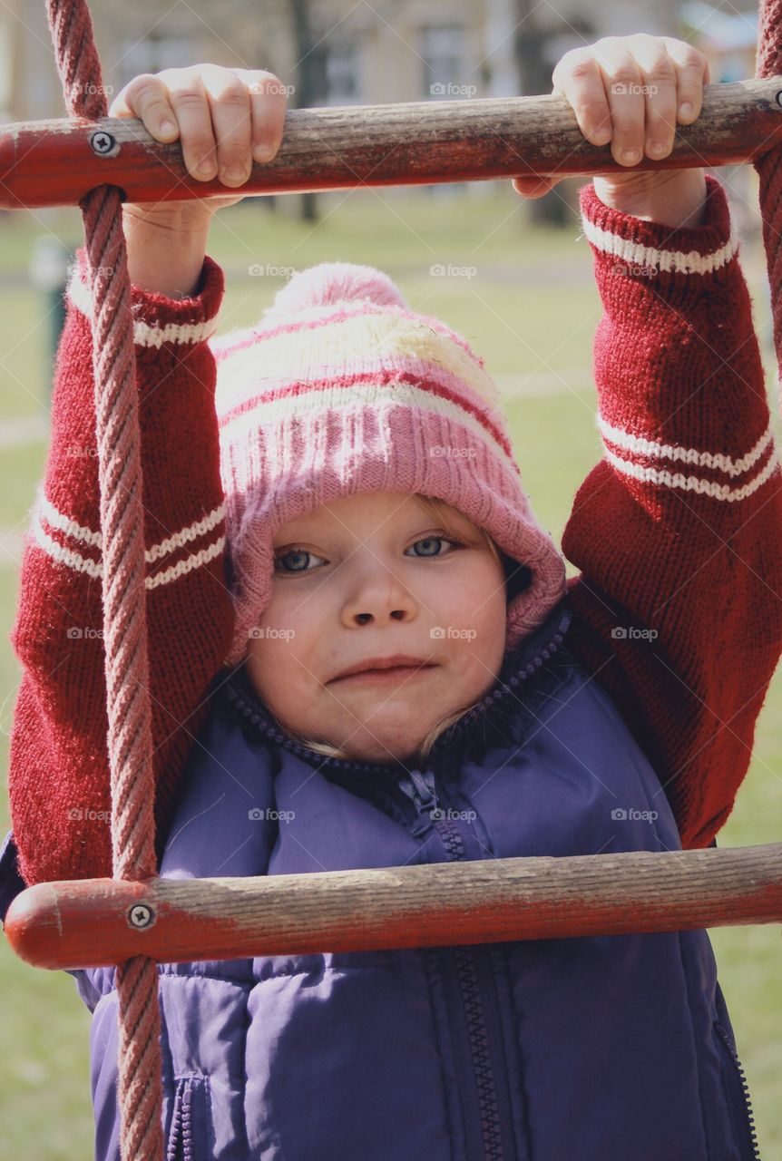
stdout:
<svg viewBox="0 0 782 1161">
<path fill-rule="evenodd" d="M 782 0 L 761 0 L 755 73 L 759 78 L 782 73 Z M 782 85 L 780 86 L 782 92 Z M 782 113 L 780 114 L 782 116 Z M 766 268 L 772 288 L 774 347 L 782 373 L 782 146 L 754 163 L 760 178 L 760 214 L 763 224 Z"/>
</svg>

